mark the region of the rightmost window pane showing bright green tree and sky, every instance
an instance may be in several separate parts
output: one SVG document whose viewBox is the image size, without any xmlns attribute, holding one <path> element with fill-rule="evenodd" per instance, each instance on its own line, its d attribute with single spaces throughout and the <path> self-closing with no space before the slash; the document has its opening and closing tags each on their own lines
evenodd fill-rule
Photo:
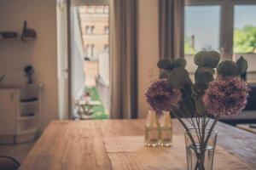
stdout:
<svg viewBox="0 0 256 170">
<path fill-rule="evenodd" d="M 256 5 L 236 5 L 234 17 L 234 53 L 255 54 Z"/>
</svg>

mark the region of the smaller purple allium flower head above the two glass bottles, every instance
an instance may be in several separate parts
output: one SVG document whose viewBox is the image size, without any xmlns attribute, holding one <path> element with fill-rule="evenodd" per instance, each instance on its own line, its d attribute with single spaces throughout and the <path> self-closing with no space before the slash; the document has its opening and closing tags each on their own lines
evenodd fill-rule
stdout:
<svg viewBox="0 0 256 170">
<path fill-rule="evenodd" d="M 161 113 L 161 111 L 171 111 L 177 106 L 182 94 L 179 90 L 171 88 L 166 79 L 160 79 L 149 84 L 145 96 L 151 108 Z"/>
</svg>

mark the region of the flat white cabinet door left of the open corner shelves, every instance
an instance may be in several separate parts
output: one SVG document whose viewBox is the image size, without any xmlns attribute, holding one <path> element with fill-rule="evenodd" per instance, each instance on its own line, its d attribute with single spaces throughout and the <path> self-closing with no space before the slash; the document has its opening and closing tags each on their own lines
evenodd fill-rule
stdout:
<svg viewBox="0 0 256 170">
<path fill-rule="evenodd" d="M 14 89 L 0 89 L 0 134 L 16 133 L 16 101 Z"/>
</svg>

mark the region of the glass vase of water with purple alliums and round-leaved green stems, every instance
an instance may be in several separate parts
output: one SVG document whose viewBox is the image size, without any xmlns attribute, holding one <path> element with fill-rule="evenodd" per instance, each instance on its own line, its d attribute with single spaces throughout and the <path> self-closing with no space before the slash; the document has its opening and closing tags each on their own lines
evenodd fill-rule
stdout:
<svg viewBox="0 0 256 170">
<path fill-rule="evenodd" d="M 219 63 L 220 54 L 215 51 L 201 51 L 194 60 L 198 65 L 195 82 L 185 70 L 185 59 L 160 60 L 160 80 L 151 82 L 145 96 L 154 111 L 172 111 L 183 125 L 188 169 L 211 170 L 217 139 L 213 128 L 218 118 L 236 116 L 247 103 L 249 88 L 240 78 L 247 70 L 247 60 L 241 56 L 236 62 Z"/>
</svg>

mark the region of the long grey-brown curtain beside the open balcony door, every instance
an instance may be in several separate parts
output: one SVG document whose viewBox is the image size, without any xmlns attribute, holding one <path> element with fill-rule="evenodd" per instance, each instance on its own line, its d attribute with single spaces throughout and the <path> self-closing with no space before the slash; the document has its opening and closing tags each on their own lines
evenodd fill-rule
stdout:
<svg viewBox="0 0 256 170">
<path fill-rule="evenodd" d="M 114 0 L 111 23 L 111 118 L 137 118 L 137 0 Z"/>
</svg>

